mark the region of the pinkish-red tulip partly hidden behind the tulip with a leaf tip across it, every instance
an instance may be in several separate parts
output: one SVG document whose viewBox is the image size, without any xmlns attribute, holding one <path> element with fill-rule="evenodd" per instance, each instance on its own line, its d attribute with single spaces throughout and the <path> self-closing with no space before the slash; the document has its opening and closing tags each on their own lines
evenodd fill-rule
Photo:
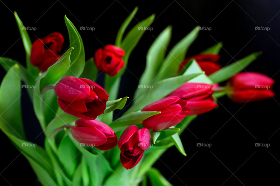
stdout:
<svg viewBox="0 0 280 186">
<path fill-rule="evenodd" d="M 190 115 L 198 115 L 209 112 L 216 106 L 212 97 L 212 85 L 202 83 L 184 83 L 168 96 L 178 96 L 183 100 L 192 113 Z"/>
</svg>

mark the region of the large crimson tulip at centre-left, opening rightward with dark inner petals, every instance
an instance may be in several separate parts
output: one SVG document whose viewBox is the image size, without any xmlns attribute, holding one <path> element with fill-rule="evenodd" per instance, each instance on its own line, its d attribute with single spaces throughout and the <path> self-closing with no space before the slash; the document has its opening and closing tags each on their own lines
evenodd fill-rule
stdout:
<svg viewBox="0 0 280 186">
<path fill-rule="evenodd" d="M 62 78 L 55 85 L 55 94 L 64 112 L 86 120 L 103 114 L 109 97 L 97 83 L 72 76 Z"/>
</svg>

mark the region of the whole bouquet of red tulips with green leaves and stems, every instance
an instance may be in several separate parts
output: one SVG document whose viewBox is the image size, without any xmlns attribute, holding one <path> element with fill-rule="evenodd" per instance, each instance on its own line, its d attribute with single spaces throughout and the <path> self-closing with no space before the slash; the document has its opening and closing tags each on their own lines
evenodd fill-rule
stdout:
<svg viewBox="0 0 280 186">
<path fill-rule="evenodd" d="M 131 107 L 115 115 L 114 110 L 124 109 L 128 99 L 119 98 L 118 89 L 129 56 L 155 17 L 142 20 L 123 36 L 136 11 L 120 26 L 115 43 L 98 49 L 89 60 L 78 30 L 66 16 L 70 47 L 61 52 L 60 33 L 32 43 L 15 12 L 26 67 L 0 58 L 7 71 L 0 88 L 0 128 L 27 158 L 42 185 L 133 186 L 147 185 L 147 180 L 153 186 L 171 185 L 152 166 L 174 145 L 186 155 L 180 135 L 197 115 L 216 108 L 217 99 L 225 95 L 237 103 L 274 96 L 272 78 L 241 72 L 260 52 L 222 67 L 218 64 L 222 43 L 218 43 L 186 58 L 199 32 L 195 28 L 166 53 L 171 39 L 167 26 L 148 49 Z M 101 72 L 104 85 L 95 83 Z M 225 86 L 219 85 L 225 81 Z M 26 140 L 22 88 L 45 135 L 44 148 Z"/>
</svg>

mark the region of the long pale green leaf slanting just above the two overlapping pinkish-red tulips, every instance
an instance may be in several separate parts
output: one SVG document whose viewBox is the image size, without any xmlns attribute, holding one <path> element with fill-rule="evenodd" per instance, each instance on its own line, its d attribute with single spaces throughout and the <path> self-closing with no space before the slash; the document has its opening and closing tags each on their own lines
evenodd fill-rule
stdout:
<svg viewBox="0 0 280 186">
<path fill-rule="evenodd" d="M 157 82 L 153 86 L 153 88 L 147 92 L 145 97 L 140 101 L 134 103 L 132 107 L 129 108 L 127 112 L 125 112 L 124 115 L 128 114 L 129 112 L 141 110 L 144 106 L 164 98 L 165 96 L 176 90 L 178 87 L 183 85 L 185 82 L 191 80 L 192 78 L 200 74 L 202 73 L 181 75 L 172 78 L 167 78 Z"/>
</svg>

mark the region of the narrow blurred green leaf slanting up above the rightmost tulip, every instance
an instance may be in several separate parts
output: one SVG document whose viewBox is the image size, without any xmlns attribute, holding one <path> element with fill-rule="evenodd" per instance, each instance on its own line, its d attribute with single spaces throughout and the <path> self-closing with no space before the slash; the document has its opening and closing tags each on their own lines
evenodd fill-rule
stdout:
<svg viewBox="0 0 280 186">
<path fill-rule="evenodd" d="M 209 78 L 214 83 L 220 83 L 222 81 L 225 81 L 225 80 L 229 79 L 230 77 L 234 76 L 235 74 L 241 72 L 251 62 L 253 62 L 255 59 L 257 59 L 258 56 L 260 56 L 260 54 L 261 54 L 261 52 L 252 53 L 249 56 L 246 56 L 245 58 L 242 58 L 242 59 L 214 72 L 213 74 L 211 74 L 209 76 Z"/>
</svg>

